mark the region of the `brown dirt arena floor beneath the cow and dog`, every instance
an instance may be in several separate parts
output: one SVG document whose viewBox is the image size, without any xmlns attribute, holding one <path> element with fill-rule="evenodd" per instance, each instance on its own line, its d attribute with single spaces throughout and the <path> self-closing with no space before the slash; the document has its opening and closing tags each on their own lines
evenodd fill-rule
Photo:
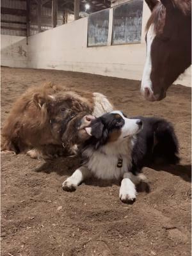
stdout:
<svg viewBox="0 0 192 256">
<path fill-rule="evenodd" d="M 172 86 L 166 99 L 147 102 L 140 81 L 59 70 L 1 68 L 1 122 L 29 86 L 44 81 L 104 93 L 129 116 L 161 116 L 175 125 L 178 166 L 144 168 L 150 192 L 133 205 L 118 198 L 118 184 L 88 180 L 77 191 L 61 183 L 78 159 L 51 163 L 1 154 L 2 256 L 191 255 L 191 89 Z"/>
</svg>

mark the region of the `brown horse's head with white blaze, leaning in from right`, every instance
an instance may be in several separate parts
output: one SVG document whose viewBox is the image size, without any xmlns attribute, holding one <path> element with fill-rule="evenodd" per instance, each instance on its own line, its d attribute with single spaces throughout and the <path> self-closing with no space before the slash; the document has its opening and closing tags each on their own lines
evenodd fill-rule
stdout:
<svg viewBox="0 0 192 256">
<path fill-rule="evenodd" d="M 141 93 L 154 101 L 191 65 L 191 0 L 145 0 L 152 14 L 147 22 L 147 58 Z"/>
</svg>

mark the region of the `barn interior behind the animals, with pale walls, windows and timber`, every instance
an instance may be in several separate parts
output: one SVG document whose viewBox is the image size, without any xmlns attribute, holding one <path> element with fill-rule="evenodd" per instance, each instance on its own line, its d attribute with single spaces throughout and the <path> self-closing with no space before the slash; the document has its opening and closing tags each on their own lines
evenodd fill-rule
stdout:
<svg viewBox="0 0 192 256">
<path fill-rule="evenodd" d="M 1 65 L 141 80 L 149 15 L 143 0 L 1 0 Z"/>
</svg>

